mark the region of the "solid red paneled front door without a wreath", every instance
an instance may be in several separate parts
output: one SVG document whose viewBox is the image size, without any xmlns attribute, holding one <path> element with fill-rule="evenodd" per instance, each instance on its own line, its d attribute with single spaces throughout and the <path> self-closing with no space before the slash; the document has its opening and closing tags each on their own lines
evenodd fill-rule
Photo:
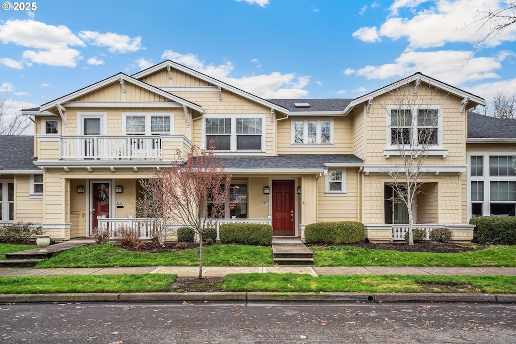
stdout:
<svg viewBox="0 0 516 344">
<path fill-rule="evenodd" d="M 294 236 L 294 181 L 272 181 L 272 228 L 275 236 Z"/>
</svg>

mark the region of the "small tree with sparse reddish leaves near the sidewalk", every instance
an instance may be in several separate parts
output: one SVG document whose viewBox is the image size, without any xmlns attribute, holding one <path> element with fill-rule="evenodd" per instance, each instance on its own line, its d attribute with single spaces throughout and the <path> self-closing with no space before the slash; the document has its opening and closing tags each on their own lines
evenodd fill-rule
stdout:
<svg viewBox="0 0 516 344">
<path fill-rule="evenodd" d="M 199 238 L 199 278 L 202 278 L 202 235 L 224 214 L 233 209 L 237 200 L 226 205 L 231 174 L 214 154 L 213 140 L 208 149 L 192 146 L 186 157 L 176 150 L 178 159 L 170 168 L 156 171 L 154 179 L 142 181 L 143 189 L 152 193 L 165 222 L 190 228 Z"/>
</svg>

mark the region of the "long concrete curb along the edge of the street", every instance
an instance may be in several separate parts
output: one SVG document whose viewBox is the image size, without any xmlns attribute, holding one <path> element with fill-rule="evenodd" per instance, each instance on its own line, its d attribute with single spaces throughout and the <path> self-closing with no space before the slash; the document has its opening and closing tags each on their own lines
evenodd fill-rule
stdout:
<svg viewBox="0 0 516 344">
<path fill-rule="evenodd" d="M 516 294 L 464 293 L 55 293 L 0 294 L 0 303 L 45 302 L 474 302 L 515 303 Z"/>
</svg>

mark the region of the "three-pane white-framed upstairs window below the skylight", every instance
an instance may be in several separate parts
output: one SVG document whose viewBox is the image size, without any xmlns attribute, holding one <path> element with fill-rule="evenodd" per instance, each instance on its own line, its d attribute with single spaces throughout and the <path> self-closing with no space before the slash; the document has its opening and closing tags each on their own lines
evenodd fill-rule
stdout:
<svg viewBox="0 0 516 344">
<path fill-rule="evenodd" d="M 292 121 L 293 145 L 333 144 L 333 120 L 305 119 Z"/>
</svg>

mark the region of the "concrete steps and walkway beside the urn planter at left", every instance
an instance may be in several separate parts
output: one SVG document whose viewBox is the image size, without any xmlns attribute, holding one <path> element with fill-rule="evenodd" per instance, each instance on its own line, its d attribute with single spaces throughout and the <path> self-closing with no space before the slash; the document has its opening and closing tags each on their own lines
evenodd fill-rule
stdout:
<svg viewBox="0 0 516 344">
<path fill-rule="evenodd" d="M 57 252 L 65 251 L 66 249 L 92 244 L 91 239 L 72 239 L 63 241 L 57 244 L 49 245 L 46 248 L 48 252 L 39 252 L 39 248 L 26 249 L 19 252 L 11 252 L 5 254 L 5 259 L 0 260 L 0 268 L 7 267 L 34 267 L 42 260 L 49 259 Z"/>
</svg>

